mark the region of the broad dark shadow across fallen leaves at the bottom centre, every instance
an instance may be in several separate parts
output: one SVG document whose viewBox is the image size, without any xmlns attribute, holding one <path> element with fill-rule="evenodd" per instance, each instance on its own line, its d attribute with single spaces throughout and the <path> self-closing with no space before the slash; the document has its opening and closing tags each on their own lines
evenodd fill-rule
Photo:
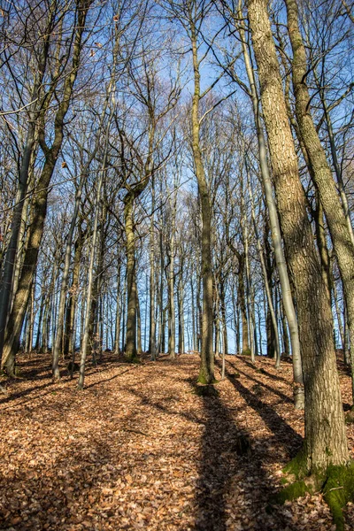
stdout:
<svg viewBox="0 0 354 531">
<path fill-rule="evenodd" d="M 250 435 L 237 428 L 218 395 L 204 396 L 203 405 L 206 424 L 196 485 L 195 528 L 226 531 L 236 525 L 235 529 L 274 531 L 289 526 L 296 531 L 289 515 L 266 513 L 268 497 L 276 487 Z"/>
</svg>

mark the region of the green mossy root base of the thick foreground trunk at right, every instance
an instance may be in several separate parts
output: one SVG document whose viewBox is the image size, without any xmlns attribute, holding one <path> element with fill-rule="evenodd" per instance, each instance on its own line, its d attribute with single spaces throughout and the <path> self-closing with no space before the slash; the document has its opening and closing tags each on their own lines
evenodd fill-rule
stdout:
<svg viewBox="0 0 354 531">
<path fill-rule="evenodd" d="M 336 531 L 344 531 L 343 509 L 350 501 L 354 501 L 354 461 L 345 466 L 327 467 L 324 473 L 305 475 L 304 457 L 301 452 L 290 461 L 283 470 L 289 481 L 293 481 L 269 500 L 271 504 L 284 504 L 287 500 L 295 500 L 307 492 L 313 494 L 321 491 L 332 513 Z M 284 482 L 287 482 L 287 477 Z M 301 479 L 303 478 L 303 479 Z"/>
</svg>

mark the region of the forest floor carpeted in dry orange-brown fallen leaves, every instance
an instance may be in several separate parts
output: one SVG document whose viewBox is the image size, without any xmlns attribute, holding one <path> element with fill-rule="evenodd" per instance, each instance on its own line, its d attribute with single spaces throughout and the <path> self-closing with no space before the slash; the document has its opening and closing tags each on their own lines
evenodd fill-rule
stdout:
<svg viewBox="0 0 354 531">
<path fill-rule="evenodd" d="M 105 353 L 77 391 L 64 365 L 53 383 L 50 358 L 19 357 L 23 379 L 0 394 L 0 529 L 333 530 L 320 494 L 266 511 L 304 435 L 292 366 L 228 356 L 218 395 L 197 396 L 198 364 Z M 353 452 L 353 425 L 348 440 Z"/>
</svg>

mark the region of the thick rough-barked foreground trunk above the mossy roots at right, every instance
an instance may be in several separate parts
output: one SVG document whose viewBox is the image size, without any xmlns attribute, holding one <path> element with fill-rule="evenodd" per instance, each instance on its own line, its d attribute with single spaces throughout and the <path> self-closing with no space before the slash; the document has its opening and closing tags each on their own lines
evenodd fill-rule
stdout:
<svg viewBox="0 0 354 531">
<path fill-rule="evenodd" d="M 304 466 L 317 472 L 349 460 L 331 308 L 306 212 L 266 0 L 249 0 L 248 11 L 281 229 L 296 291 L 305 389 Z"/>
</svg>

